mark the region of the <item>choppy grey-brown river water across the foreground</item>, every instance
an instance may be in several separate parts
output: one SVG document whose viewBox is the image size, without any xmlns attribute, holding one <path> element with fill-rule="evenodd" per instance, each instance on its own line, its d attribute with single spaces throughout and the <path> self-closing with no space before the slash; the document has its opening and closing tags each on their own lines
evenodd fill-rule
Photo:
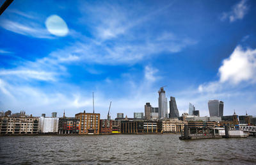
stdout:
<svg viewBox="0 0 256 165">
<path fill-rule="evenodd" d="M 256 138 L 4 136 L 0 164 L 256 164 Z"/>
</svg>

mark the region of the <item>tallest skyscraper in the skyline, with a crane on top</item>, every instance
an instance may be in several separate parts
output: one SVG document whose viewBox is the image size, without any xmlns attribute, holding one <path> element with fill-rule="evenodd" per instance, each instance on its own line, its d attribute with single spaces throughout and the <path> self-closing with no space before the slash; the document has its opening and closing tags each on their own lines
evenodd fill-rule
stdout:
<svg viewBox="0 0 256 165">
<path fill-rule="evenodd" d="M 165 97 L 164 88 L 161 87 L 158 93 L 159 118 L 168 118 L 167 98 Z"/>
</svg>

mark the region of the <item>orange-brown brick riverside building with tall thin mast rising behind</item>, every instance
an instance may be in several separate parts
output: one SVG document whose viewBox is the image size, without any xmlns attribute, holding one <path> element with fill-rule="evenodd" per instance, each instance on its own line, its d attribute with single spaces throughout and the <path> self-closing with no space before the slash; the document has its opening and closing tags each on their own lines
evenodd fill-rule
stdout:
<svg viewBox="0 0 256 165">
<path fill-rule="evenodd" d="M 77 113 L 79 119 L 79 134 L 99 134 L 100 133 L 100 114 L 99 113 Z"/>
</svg>

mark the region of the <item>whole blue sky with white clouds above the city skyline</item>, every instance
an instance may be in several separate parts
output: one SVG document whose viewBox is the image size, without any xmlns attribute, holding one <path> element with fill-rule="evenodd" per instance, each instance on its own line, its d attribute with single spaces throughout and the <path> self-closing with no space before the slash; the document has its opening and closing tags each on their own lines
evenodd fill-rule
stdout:
<svg viewBox="0 0 256 165">
<path fill-rule="evenodd" d="M 1 1 L 0 4 L 3 4 Z M 164 86 L 180 115 L 256 115 L 256 1 L 13 1 L 0 15 L 0 111 L 133 117 Z M 169 107 L 169 105 L 168 105 Z M 169 110 L 168 110 L 169 111 Z"/>
</svg>

